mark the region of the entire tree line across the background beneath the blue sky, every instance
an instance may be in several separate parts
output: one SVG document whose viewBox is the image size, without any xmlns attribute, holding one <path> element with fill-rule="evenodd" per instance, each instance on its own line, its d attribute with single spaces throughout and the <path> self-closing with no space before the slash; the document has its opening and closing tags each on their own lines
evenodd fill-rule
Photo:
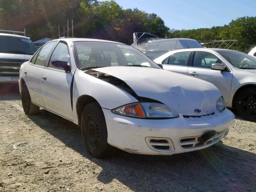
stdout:
<svg viewBox="0 0 256 192">
<path fill-rule="evenodd" d="M 238 40 L 231 48 L 248 52 L 256 46 L 256 17 L 242 17 L 224 26 L 192 30 L 167 27 L 157 14 L 123 9 L 114 0 L 0 0 L 0 29 L 23 30 L 32 41 L 63 36 L 67 20 L 74 20 L 74 36 L 132 44 L 134 32 L 198 41 Z M 71 23 L 71 22 L 70 22 Z M 67 32 L 65 32 L 65 35 Z M 71 34 L 71 25 L 69 26 Z"/>
</svg>

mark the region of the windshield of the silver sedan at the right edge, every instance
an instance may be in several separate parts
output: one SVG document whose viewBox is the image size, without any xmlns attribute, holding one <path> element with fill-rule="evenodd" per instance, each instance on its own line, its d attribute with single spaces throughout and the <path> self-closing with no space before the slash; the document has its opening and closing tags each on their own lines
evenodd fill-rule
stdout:
<svg viewBox="0 0 256 192">
<path fill-rule="evenodd" d="M 256 69 L 256 58 L 238 51 L 217 51 L 232 65 L 240 69 Z"/>
</svg>

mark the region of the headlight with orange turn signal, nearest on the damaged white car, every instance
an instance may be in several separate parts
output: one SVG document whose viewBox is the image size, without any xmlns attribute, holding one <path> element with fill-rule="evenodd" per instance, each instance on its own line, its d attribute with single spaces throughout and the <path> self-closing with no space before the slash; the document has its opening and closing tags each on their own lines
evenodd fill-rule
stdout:
<svg viewBox="0 0 256 192">
<path fill-rule="evenodd" d="M 176 118 L 168 106 L 155 102 L 132 103 L 113 109 L 113 113 L 136 118 Z"/>
</svg>

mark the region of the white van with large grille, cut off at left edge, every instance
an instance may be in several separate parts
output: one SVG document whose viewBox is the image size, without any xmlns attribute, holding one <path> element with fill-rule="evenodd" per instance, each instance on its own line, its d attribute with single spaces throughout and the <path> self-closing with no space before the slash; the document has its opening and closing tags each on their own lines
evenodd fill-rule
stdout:
<svg viewBox="0 0 256 192">
<path fill-rule="evenodd" d="M 21 64 L 35 52 L 29 37 L 0 33 L 0 83 L 18 83 Z"/>
</svg>

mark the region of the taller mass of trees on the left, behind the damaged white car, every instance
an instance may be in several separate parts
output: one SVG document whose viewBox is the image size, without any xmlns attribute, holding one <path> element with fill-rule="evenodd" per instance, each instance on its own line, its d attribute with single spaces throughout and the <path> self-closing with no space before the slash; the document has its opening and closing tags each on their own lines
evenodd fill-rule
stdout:
<svg viewBox="0 0 256 192">
<path fill-rule="evenodd" d="M 164 36 L 169 30 L 158 15 L 137 8 L 123 9 L 113 0 L 0 0 L 0 29 L 26 28 L 26 35 L 32 40 L 58 38 L 58 25 L 63 36 L 63 26 L 66 30 L 68 19 L 74 20 L 75 37 L 126 44 L 132 44 L 133 32 Z M 69 30 L 71 34 L 71 25 Z"/>
</svg>

